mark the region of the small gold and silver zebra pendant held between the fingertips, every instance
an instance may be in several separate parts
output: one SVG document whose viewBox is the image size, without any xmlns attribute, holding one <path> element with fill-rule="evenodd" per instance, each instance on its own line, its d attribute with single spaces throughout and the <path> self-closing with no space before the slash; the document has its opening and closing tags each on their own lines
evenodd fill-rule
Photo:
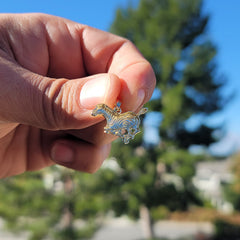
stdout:
<svg viewBox="0 0 240 240">
<path fill-rule="evenodd" d="M 111 109 L 106 104 L 98 104 L 92 111 L 92 116 L 103 115 L 107 120 L 107 125 L 104 127 L 104 132 L 113 134 L 122 139 L 127 144 L 129 139 L 133 139 L 140 132 L 140 115 L 147 112 L 147 108 L 142 108 L 139 113 L 125 112 L 122 113 L 120 108 L 121 103 L 117 102 L 114 109 Z"/>
</svg>

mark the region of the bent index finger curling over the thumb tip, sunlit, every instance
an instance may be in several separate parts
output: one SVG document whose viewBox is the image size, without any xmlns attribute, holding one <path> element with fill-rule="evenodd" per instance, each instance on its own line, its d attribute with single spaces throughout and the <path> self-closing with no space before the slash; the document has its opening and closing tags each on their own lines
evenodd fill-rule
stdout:
<svg viewBox="0 0 240 240">
<path fill-rule="evenodd" d="M 82 39 L 87 72 L 110 72 L 122 80 L 119 100 L 124 110 L 135 111 L 150 99 L 156 84 L 155 74 L 133 43 L 87 26 Z"/>
</svg>

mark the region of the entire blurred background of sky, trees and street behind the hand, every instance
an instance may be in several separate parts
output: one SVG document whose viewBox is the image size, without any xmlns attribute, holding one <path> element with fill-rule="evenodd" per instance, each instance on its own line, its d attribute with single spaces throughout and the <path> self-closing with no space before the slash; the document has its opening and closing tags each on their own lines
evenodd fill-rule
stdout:
<svg viewBox="0 0 240 240">
<path fill-rule="evenodd" d="M 0 239 L 240 238 L 240 2 L 1 3 L 133 41 L 157 86 L 142 133 L 95 174 L 54 166 L 1 180 Z"/>
</svg>

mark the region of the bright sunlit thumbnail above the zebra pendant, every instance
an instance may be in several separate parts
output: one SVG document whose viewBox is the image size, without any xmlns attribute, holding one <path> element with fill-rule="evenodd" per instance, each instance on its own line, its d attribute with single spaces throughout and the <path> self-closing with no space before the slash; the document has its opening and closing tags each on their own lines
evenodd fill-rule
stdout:
<svg viewBox="0 0 240 240">
<path fill-rule="evenodd" d="M 109 88 L 109 76 L 98 76 L 84 84 L 80 93 L 82 108 L 93 109 L 98 103 L 103 103 Z"/>
</svg>

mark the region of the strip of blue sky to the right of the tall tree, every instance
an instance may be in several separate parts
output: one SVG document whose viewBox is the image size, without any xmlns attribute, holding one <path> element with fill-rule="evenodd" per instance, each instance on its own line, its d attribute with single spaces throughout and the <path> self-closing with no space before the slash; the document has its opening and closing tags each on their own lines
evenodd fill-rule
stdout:
<svg viewBox="0 0 240 240">
<path fill-rule="evenodd" d="M 240 150 L 240 1 L 206 0 L 205 10 L 211 15 L 209 37 L 218 47 L 219 72 L 228 78 L 223 94 L 235 93 L 224 111 L 215 116 L 216 122 L 225 122 L 226 130 L 226 137 L 216 145 L 216 150 L 219 153 L 230 148 Z"/>
</svg>

